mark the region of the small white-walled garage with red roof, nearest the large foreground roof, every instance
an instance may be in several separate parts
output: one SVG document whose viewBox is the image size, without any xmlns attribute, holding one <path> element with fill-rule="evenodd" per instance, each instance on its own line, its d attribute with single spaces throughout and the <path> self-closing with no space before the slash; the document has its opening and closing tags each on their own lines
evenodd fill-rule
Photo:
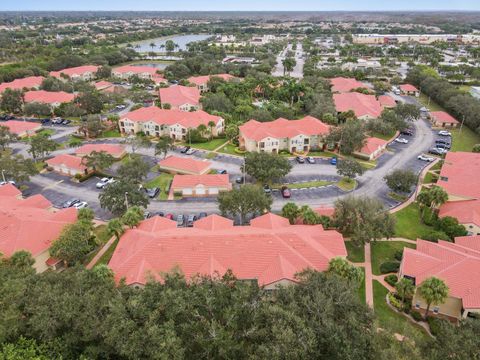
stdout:
<svg viewBox="0 0 480 360">
<path fill-rule="evenodd" d="M 228 174 L 175 175 L 170 191 L 182 196 L 216 196 L 221 191 L 232 190 Z"/>
</svg>

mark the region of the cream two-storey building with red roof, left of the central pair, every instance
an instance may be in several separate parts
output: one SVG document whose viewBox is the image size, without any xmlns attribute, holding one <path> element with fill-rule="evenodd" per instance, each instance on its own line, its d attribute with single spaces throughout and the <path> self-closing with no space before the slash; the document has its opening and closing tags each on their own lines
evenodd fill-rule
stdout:
<svg viewBox="0 0 480 360">
<path fill-rule="evenodd" d="M 122 134 L 143 132 L 149 136 L 170 136 L 175 140 L 186 140 L 188 129 L 196 129 L 203 124 L 215 126 L 211 129 L 213 136 L 223 133 L 225 121 L 220 116 L 210 115 L 205 111 L 180 111 L 160 109 L 156 106 L 131 111 L 118 122 Z"/>
</svg>

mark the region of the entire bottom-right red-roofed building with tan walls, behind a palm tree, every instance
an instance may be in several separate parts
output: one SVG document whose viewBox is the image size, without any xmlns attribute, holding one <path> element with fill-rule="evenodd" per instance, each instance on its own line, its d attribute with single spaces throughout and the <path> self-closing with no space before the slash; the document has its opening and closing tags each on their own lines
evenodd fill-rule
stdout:
<svg viewBox="0 0 480 360">
<path fill-rule="evenodd" d="M 417 240 L 416 249 L 404 248 L 399 278 L 412 280 L 418 287 L 432 276 L 449 288 L 443 304 L 433 304 L 432 315 L 449 319 L 480 313 L 480 236 L 455 238 L 455 243 Z M 416 291 L 412 306 L 425 311 L 426 301 Z"/>
</svg>

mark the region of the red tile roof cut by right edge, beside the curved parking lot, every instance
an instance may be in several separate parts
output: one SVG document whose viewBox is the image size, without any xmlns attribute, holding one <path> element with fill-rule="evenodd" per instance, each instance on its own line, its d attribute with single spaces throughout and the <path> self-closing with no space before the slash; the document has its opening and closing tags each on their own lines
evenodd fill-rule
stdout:
<svg viewBox="0 0 480 360">
<path fill-rule="evenodd" d="M 480 154 L 448 152 L 437 185 L 449 195 L 480 199 Z"/>
</svg>

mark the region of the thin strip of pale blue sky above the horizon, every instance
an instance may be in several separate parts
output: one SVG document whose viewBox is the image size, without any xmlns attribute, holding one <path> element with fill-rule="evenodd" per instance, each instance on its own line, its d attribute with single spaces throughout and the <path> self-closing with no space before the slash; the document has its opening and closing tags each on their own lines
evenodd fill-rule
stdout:
<svg viewBox="0 0 480 360">
<path fill-rule="evenodd" d="M 480 10 L 479 0 L 0 0 L 1 10 Z"/>
</svg>

